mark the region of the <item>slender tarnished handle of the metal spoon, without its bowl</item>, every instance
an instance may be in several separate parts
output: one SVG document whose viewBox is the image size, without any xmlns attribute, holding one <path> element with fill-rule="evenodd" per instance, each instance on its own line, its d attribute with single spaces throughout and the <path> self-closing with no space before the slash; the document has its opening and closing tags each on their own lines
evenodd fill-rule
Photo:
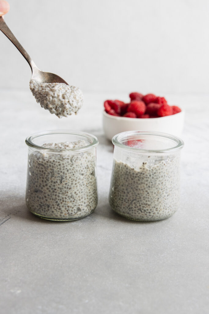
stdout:
<svg viewBox="0 0 209 314">
<path fill-rule="evenodd" d="M 13 35 L 11 30 L 8 28 L 2 16 L 0 16 L 0 30 L 8 37 L 8 39 L 14 44 L 14 46 L 19 50 L 19 52 L 23 55 L 26 61 L 29 63 L 29 66 L 33 72 L 34 68 L 37 68 L 29 54 L 25 51 L 23 46 L 20 45 L 17 38 Z"/>
</svg>

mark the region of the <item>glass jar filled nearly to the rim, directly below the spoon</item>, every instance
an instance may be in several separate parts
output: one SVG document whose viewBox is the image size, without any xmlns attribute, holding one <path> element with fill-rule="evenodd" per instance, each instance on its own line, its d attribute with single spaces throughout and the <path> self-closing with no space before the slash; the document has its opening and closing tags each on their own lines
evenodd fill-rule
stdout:
<svg viewBox="0 0 209 314">
<path fill-rule="evenodd" d="M 68 130 L 35 133 L 26 138 L 26 205 L 40 218 L 75 220 L 97 207 L 96 146 L 88 133 Z"/>
</svg>

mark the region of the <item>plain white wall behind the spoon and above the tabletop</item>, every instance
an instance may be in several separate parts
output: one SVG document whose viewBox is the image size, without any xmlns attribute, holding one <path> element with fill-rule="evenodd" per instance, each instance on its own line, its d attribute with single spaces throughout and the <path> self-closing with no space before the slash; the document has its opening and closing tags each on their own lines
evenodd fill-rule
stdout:
<svg viewBox="0 0 209 314">
<path fill-rule="evenodd" d="M 37 66 L 84 92 L 207 93 L 208 0 L 10 0 L 5 21 Z M 28 89 L 0 32 L 0 89 Z"/>
</svg>

